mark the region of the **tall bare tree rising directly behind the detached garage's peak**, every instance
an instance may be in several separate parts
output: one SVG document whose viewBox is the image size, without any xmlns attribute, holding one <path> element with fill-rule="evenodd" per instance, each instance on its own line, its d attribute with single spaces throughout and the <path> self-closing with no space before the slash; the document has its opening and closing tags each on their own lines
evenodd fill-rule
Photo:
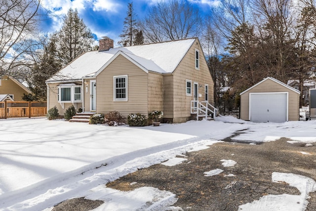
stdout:
<svg viewBox="0 0 316 211">
<path fill-rule="evenodd" d="M 288 71 L 286 63 L 293 55 L 294 10 L 291 0 L 257 0 L 254 3 L 257 20 L 256 25 L 272 55 L 273 63 L 270 73 L 282 82 L 287 82 Z"/>
</svg>

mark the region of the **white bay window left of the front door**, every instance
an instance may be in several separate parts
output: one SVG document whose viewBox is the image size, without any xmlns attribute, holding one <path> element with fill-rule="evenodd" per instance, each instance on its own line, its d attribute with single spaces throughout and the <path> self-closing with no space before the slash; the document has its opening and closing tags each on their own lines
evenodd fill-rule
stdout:
<svg viewBox="0 0 316 211">
<path fill-rule="evenodd" d="M 58 102 L 81 102 L 81 86 L 76 84 L 60 84 L 58 86 Z"/>
</svg>

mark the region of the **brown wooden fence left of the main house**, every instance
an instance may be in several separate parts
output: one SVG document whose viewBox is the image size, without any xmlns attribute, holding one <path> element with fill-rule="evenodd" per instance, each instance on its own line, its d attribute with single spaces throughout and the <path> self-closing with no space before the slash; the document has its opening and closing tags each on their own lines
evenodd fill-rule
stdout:
<svg viewBox="0 0 316 211">
<path fill-rule="evenodd" d="M 11 117 L 44 117 L 46 102 L 4 101 L 0 102 L 0 119 Z"/>
</svg>

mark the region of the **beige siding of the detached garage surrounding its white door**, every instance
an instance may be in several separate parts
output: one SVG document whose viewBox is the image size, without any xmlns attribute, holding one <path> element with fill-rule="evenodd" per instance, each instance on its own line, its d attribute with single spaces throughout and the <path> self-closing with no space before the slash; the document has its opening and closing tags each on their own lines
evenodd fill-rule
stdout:
<svg viewBox="0 0 316 211">
<path fill-rule="evenodd" d="M 270 79 L 240 95 L 240 119 L 249 120 L 250 92 L 288 92 L 288 120 L 299 120 L 299 94 Z"/>
</svg>

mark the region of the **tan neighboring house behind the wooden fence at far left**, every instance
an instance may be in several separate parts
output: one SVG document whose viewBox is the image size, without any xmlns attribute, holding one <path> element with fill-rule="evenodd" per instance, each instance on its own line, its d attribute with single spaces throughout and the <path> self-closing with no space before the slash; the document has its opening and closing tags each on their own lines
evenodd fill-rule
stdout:
<svg viewBox="0 0 316 211">
<path fill-rule="evenodd" d="M 27 87 L 18 80 L 10 76 L 0 78 L 0 95 L 9 95 L 14 101 L 23 101 L 23 94 L 32 93 Z"/>
</svg>

